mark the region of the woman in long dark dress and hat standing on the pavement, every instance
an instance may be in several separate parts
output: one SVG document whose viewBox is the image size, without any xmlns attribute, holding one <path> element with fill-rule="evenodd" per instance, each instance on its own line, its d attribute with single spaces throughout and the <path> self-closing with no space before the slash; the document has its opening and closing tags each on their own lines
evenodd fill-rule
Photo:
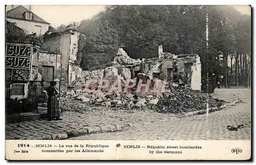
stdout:
<svg viewBox="0 0 256 165">
<path fill-rule="evenodd" d="M 60 110 L 58 106 L 58 90 L 56 89 L 55 85 L 57 83 L 52 81 L 50 87 L 46 88 L 46 92 L 48 94 L 48 101 L 47 101 L 47 119 L 51 121 L 52 119 L 62 120 L 59 118 Z"/>
</svg>

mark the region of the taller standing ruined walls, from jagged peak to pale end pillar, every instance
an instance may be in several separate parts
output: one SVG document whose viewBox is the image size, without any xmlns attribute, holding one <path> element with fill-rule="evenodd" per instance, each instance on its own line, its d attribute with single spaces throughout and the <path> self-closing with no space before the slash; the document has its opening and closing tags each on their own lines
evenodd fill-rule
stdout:
<svg viewBox="0 0 256 165">
<path fill-rule="evenodd" d="M 198 54 L 175 55 L 163 52 L 162 46 L 159 46 L 158 58 L 135 60 L 121 48 L 113 65 L 118 66 L 117 68 L 122 66 L 121 76 L 124 72 L 128 73 L 126 75 L 130 75 L 132 79 L 138 75 L 144 75 L 149 79 L 181 82 L 195 91 L 201 91 L 201 62 Z"/>
</svg>

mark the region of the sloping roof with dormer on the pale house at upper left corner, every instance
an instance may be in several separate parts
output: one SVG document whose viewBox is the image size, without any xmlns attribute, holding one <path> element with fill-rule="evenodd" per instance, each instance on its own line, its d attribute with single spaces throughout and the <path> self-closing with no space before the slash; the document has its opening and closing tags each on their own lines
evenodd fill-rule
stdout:
<svg viewBox="0 0 256 165">
<path fill-rule="evenodd" d="M 47 21 L 45 21 L 44 19 L 38 17 L 36 14 L 34 14 L 33 12 L 31 12 L 30 10 L 28 10 L 27 8 L 23 7 L 22 5 L 12 9 L 12 10 L 9 10 L 6 12 L 6 17 L 7 18 L 14 18 L 14 19 L 23 19 L 23 20 L 27 20 L 25 18 L 25 12 L 30 12 L 32 13 L 32 20 L 31 21 L 34 21 L 34 22 L 41 22 L 41 23 L 47 23 L 47 24 L 50 24 L 48 23 Z"/>
</svg>

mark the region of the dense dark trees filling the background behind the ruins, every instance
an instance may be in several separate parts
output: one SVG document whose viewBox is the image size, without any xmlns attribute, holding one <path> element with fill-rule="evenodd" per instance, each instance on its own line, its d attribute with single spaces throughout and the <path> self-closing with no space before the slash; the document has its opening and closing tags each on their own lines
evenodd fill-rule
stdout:
<svg viewBox="0 0 256 165">
<path fill-rule="evenodd" d="M 110 66 L 120 47 L 130 57 L 138 59 L 157 57 L 158 46 L 162 45 L 166 52 L 198 53 L 203 78 L 207 73 L 215 73 L 227 79 L 233 70 L 227 66 L 228 56 L 234 57 L 240 67 L 243 65 L 242 69 L 236 66 L 236 74 L 248 72 L 250 25 L 250 16 L 242 15 L 231 6 L 113 5 L 106 6 L 105 11 L 91 19 L 71 22 L 68 26 L 62 24 L 57 30 L 76 28 L 85 35 L 86 41 L 79 48 L 77 60 L 83 69 Z"/>
</svg>

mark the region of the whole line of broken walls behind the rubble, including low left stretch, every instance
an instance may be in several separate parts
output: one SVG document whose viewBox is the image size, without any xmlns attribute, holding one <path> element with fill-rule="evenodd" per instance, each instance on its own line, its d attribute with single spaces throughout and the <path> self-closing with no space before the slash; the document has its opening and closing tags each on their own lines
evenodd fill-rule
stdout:
<svg viewBox="0 0 256 165">
<path fill-rule="evenodd" d="M 178 72 L 177 74 L 184 76 L 184 64 L 189 63 L 190 61 L 195 65 L 192 67 L 192 72 L 194 73 L 194 78 L 196 84 L 193 84 L 193 88 L 196 90 L 201 89 L 201 81 L 199 74 L 201 70 L 198 69 L 200 59 L 198 59 L 197 54 L 181 54 L 176 56 L 168 52 L 162 52 L 161 58 L 152 58 L 152 59 L 143 59 L 135 60 L 130 58 L 127 53 L 122 49 L 118 49 L 117 56 L 113 61 L 113 66 L 105 69 L 99 69 L 94 71 L 79 71 L 79 74 L 76 75 L 76 87 L 83 87 L 86 84 L 86 81 L 89 79 L 132 79 L 136 78 L 138 73 L 144 73 L 144 76 L 149 77 L 150 79 L 159 78 L 161 80 L 170 80 L 169 74 L 170 70 L 173 72 Z M 174 64 L 177 65 L 175 70 Z M 135 75 L 135 72 L 137 73 Z M 182 77 L 181 76 L 181 77 Z M 80 79 L 77 79 L 79 78 Z M 74 78 L 72 79 L 74 81 Z M 184 79 L 182 79 L 184 81 Z M 79 85 L 77 85 L 79 83 Z M 200 84 L 200 88 L 199 85 Z M 95 85 L 96 86 L 96 85 Z"/>
</svg>

